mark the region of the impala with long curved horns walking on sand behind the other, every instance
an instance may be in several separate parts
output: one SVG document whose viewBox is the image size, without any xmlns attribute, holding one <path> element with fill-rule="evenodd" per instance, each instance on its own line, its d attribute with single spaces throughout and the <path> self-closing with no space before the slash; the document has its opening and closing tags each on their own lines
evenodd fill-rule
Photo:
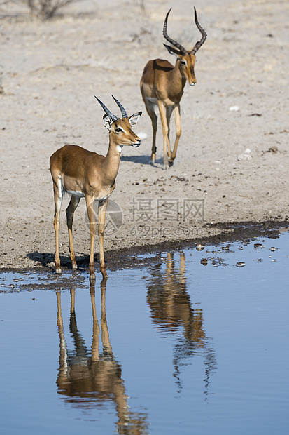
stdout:
<svg viewBox="0 0 289 435">
<path fill-rule="evenodd" d="M 150 161 L 151 163 L 155 163 L 155 138 L 157 134 L 157 114 L 155 114 L 155 107 L 157 106 L 162 122 L 162 135 L 164 138 L 164 168 L 167 168 L 168 164 L 171 166 L 176 158 L 178 141 L 181 136 L 180 101 L 183 95 L 183 88 L 186 81 L 188 81 L 190 86 L 195 86 L 197 83 L 194 72 L 195 54 L 204 44 L 204 41 L 206 41 L 206 32 L 199 25 L 196 9 L 195 23 L 202 34 L 202 39 L 198 41 L 190 51 L 187 51 L 181 44 L 174 41 L 174 39 L 171 39 L 167 34 L 167 20 L 170 11 L 171 9 L 164 20 L 162 34 L 172 45 L 171 47 L 164 44 L 167 51 L 176 56 L 176 65 L 173 66 L 167 60 L 162 59 L 149 60 L 146 67 L 143 69 L 143 75 L 141 77 L 141 94 L 153 125 L 153 147 Z M 171 152 L 171 146 L 169 144 L 169 120 L 172 112 L 174 112 L 174 120 L 176 123 L 176 140 L 174 149 Z"/>
</svg>

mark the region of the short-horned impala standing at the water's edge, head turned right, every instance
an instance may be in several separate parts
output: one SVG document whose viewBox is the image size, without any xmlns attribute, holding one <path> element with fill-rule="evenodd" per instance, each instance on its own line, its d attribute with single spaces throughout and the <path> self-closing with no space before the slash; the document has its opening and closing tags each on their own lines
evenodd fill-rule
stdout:
<svg viewBox="0 0 289 435">
<path fill-rule="evenodd" d="M 113 95 L 112 95 L 113 96 Z M 97 98 L 97 97 L 95 97 Z M 99 234 L 99 260 L 102 276 L 107 277 L 104 262 L 104 224 L 108 197 L 115 189 L 115 178 L 120 166 L 120 153 L 125 145 L 139 147 L 141 140 L 132 131 L 141 116 L 137 112 L 128 117 L 124 107 L 116 100 L 122 118 L 111 113 L 98 98 L 97 101 L 106 113 L 103 117 L 104 126 L 109 132 L 109 145 L 106 156 L 96 152 L 87 151 L 77 145 L 64 145 L 50 157 L 50 172 L 53 180 L 55 201 L 55 269 L 61 273 L 59 258 L 59 215 L 64 192 L 71 194 L 69 206 L 66 208 L 66 222 L 69 232 L 69 252 L 72 268 L 76 269 L 76 257 L 73 250 L 72 223 L 73 214 L 80 198 L 85 198 L 87 215 L 90 221 L 90 280 L 95 279 L 94 274 L 94 238 L 97 225 L 94 218 L 94 201 L 99 201 L 98 206 L 98 234 Z"/>
</svg>

